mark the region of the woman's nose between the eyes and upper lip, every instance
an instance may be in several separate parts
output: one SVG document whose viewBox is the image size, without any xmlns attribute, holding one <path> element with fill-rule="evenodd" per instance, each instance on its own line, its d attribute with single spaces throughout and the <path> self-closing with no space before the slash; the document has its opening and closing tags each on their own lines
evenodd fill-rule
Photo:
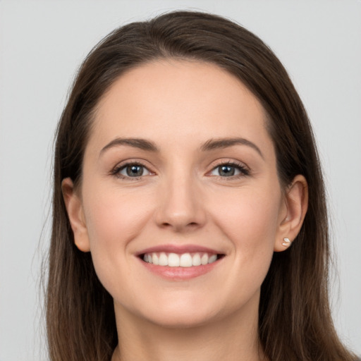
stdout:
<svg viewBox="0 0 361 361">
<path fill-rule="evenodd" d="M 162 184 L 160 193 L 156 213 L 159 227 L 181 233 L 204 226 L 207 217 L 197 181 L 173 176 Z"/>
</svg>

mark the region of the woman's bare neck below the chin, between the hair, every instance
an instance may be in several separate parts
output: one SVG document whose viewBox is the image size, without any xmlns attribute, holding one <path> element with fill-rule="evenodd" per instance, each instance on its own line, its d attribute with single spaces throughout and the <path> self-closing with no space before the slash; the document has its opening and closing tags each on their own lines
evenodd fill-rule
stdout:
<svg viewBox="0 0 361 361">
<path fill-rule="evenodd" d="M 118 346 L 111 361 L 266 360 L 259 345 L 258 312 L 253 311 L 180 329 L 159 326 L 116 307 Z"/>
</svg>

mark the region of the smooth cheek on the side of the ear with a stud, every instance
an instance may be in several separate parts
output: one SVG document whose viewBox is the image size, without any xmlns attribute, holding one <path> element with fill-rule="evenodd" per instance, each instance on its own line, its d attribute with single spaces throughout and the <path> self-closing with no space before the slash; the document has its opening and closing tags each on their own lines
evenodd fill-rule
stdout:
<svg viewBox="0 0 361 361">
<path fill-rule="evenodd" d="M 279 225 L 281 190 L 243 188 L 224 197 L 221 212 L 214 212 L 219 229 L 231 241 L 235 274 L 244 289 L 260 287 L 274 254 Z M 267 188 L 263 188 L 267 190 Z M 230 288 L 234 285 L 230 285 Z"/>
</svg>

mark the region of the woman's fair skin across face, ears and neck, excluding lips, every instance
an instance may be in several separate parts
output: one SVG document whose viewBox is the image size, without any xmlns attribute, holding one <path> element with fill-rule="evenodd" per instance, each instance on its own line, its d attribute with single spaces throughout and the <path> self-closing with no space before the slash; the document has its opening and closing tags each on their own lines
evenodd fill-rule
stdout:
<svg viewBox="0 0 361 361">
<path fill-rule="evenodd" d="M 305 178 L 281 188 L 265 125 L 257 98 L 209 63 L 147 63 L 104 94 L 82 184 L 75 189 L 65 179 L 63 195 L 75 244 L 92 253 L 114 298 L 113 361 L 119 350 L 123 361 L 264 360 L 260 287 L 274 251 L 289 247 L 283 238 L 295 238 L 307 210 Z M 202 149 L 234 137 L 248 143 Z M 148 140 L 158 151 L 109 145 L 117 138 Z M 143 175 L 127 176 L 127 162 L 145 166 Z M 224 176 L 219 166 L 230 163 L 235 175 Z M 164 279 L 137 252 L 165 244 L 224 257 L 202 276 Z"/>
</svg>

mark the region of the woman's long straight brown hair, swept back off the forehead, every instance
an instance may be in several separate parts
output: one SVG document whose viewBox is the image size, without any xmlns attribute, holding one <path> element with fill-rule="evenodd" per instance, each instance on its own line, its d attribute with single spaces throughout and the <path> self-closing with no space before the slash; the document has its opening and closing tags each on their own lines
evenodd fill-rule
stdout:
<svg viewBox="0 0 361 361">
<path fill-rule="evenodd" d="M 262 40 L 225 18 L 177 11 L 111 32 L 82 63 L 56 133 L 47 334 L 53 361 L 109 361 L 117 333 L 113 300 L 90 253 L 74 245 L 61 181 L 81 183 L 82 159 L 99 99 L 124 71 L 154 59 L 214 63 L 237 77 L 267 112 L 281 184 L 302 174 L 309 187 L 304 224 L 275 253 L 262 284 L 259 338 L 272 361 L 353 360 L 329 309 L 329 235 L 324 183 L 314 137 L 286 70 Z M 307 250 L 307 251 L 306 251 Z"/>
</svg>

